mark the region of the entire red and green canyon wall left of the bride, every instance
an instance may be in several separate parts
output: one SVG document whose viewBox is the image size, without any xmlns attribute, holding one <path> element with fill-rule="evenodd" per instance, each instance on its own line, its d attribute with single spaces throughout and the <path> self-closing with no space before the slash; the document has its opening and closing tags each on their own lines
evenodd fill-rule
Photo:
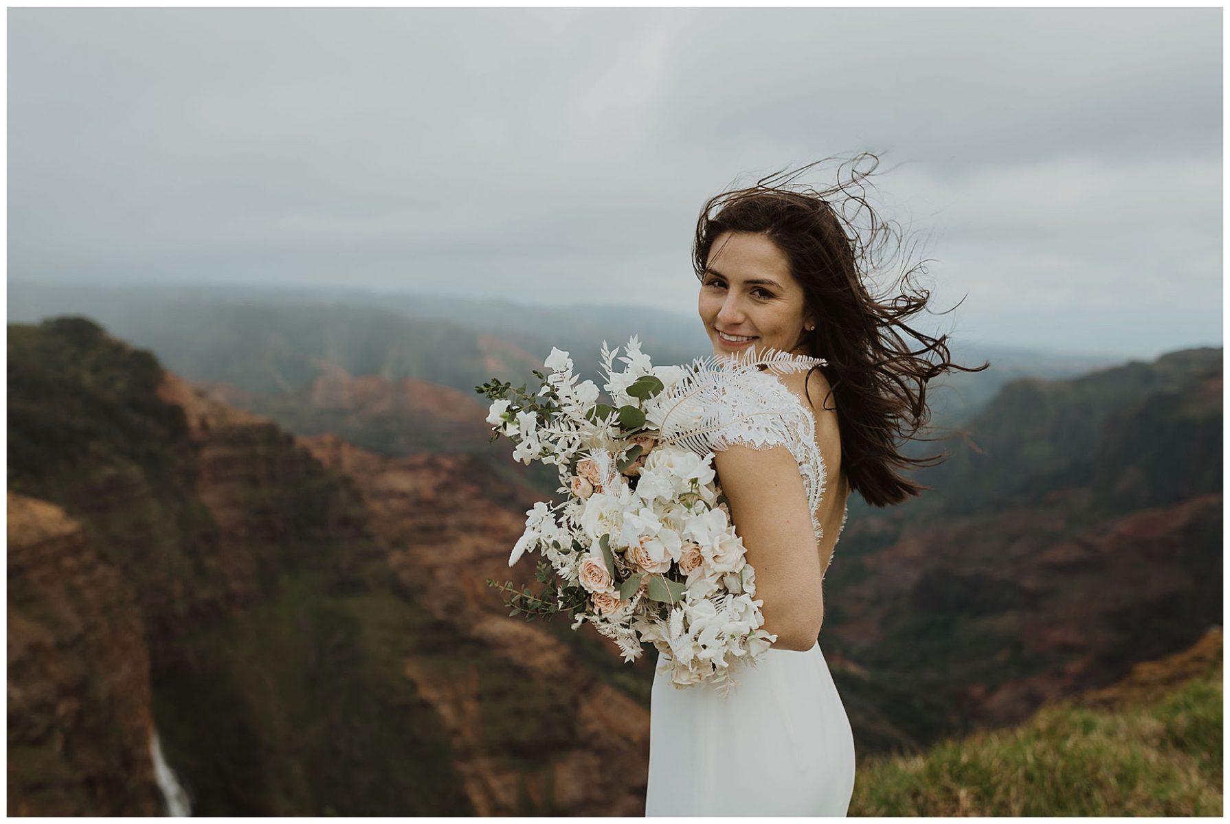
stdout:
<svg viewBox="0 0 1230 824">
<path fill-rule="evenodd" d="M 651 662 L 483 583 L 533 576 L 530 487 L 296 442 L 85 319 L 9 365 L 10 812 L 160 814 L 155 726 L 197 815 L 643 812 Z"/>
</svg>

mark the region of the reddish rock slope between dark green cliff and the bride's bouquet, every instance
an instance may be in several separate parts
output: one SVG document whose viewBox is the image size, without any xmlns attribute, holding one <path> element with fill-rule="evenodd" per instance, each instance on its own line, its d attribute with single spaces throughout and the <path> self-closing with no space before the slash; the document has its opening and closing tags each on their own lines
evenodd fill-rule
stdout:
<svg viewBox="0 0 1230 824">
<path fill-rule="evenodd" d="M 355 480 L 399 580 L 437 621 L 406 674 L 439 711 L 475 812 L 642 815 L 646 707 L 600 680 L 576 640 L 510 619 L 485 583 L 531 577 L 529 563 L 509 571 L 508 552 L 539 494 L 493 478 L 474 456 L 385 458 L 332 435 L 300 443 Z M 597 633 L 589 643 L 609 646 L 600 654 L 613 669 L 633 669 Z M 646 684 L 651 663 L 636 668 Z"/>
</svg>

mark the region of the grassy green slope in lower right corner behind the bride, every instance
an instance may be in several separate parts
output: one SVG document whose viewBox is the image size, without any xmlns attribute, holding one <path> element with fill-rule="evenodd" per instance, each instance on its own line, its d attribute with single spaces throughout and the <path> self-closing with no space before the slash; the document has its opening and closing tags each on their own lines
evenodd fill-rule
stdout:
<svg viewBox="0 0 1230 824">
<path fill-rule="evenodd" d="M 850 815 L 1221 815 L 1221 656 L 1161 697 L 1068 700 L 859 767 Z"/>
</svg>

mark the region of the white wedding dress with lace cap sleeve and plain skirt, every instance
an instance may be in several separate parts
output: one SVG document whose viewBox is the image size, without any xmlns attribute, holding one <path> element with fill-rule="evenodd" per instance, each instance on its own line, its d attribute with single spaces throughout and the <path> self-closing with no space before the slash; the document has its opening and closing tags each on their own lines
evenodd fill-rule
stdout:
<svg viewBox="0 0 1230 824">
<path fill-rule="evenodd" d="M 708 445 L 713 451 L 731 443 L 787 446 L 798 464 L 819 541 L 823 530 L 815 513 L 825 467 L 815 444 L 814 414 L 774 374 L 758 374 L 763 380 L 755 391 L 744 385 L 729 392 L 726 403 L 734 412 L 755 407 L 760 421 L 765 411 L 775 411 L 779 426 L 732 423 L 710 437 Z M 819 642 L 807 652 L 769 648 L 736 680 L 723 697 L 708 684 L 680 689 L 669 673 L 656 673 L 645 814 L 845 815 L 854 792 L 854 734 Z"/>
</svg>

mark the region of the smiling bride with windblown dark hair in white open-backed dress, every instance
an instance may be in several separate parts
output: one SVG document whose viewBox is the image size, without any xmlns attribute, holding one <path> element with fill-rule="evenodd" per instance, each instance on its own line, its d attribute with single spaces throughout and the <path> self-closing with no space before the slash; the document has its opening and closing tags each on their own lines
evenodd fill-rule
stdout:
<svg viewBox="0 0 1230 824">
<path fill-rule="evenodd" d="M 776 381 L 766 391 L 790 398 L 803 422 L 793 439 L 756 443 L 733 430 L 715 439 L 718 483 L 755 568 L 764 628 L 777 640 L 726 697 L 704 683 L 676 687 L 657 670 L 646 815 L 846 814 L 855 744 L 818 642 L 822 582 L 851 492 L 887 505 L 926 488 L 893 471 L 929 460 L 895 445 L 926 422 L 926 382 L 947 369 L 985 368 L 948 363 L 947 336 L 902 322 L 927 293 L 879 303 L 867 291 L 867 252 L 884 225 L 873 220 L 872 242 L 855 244 L 830 205 L 840 183 L 827 192 L 791 184 L 811 166 L 711 198 L 696 228 L 699 311 L 715 354 L 740 358 L 755 347 L 824 365 L 766 373 Z M 894 326 L 941 363 L 913 357 Z"/>
</svg>

